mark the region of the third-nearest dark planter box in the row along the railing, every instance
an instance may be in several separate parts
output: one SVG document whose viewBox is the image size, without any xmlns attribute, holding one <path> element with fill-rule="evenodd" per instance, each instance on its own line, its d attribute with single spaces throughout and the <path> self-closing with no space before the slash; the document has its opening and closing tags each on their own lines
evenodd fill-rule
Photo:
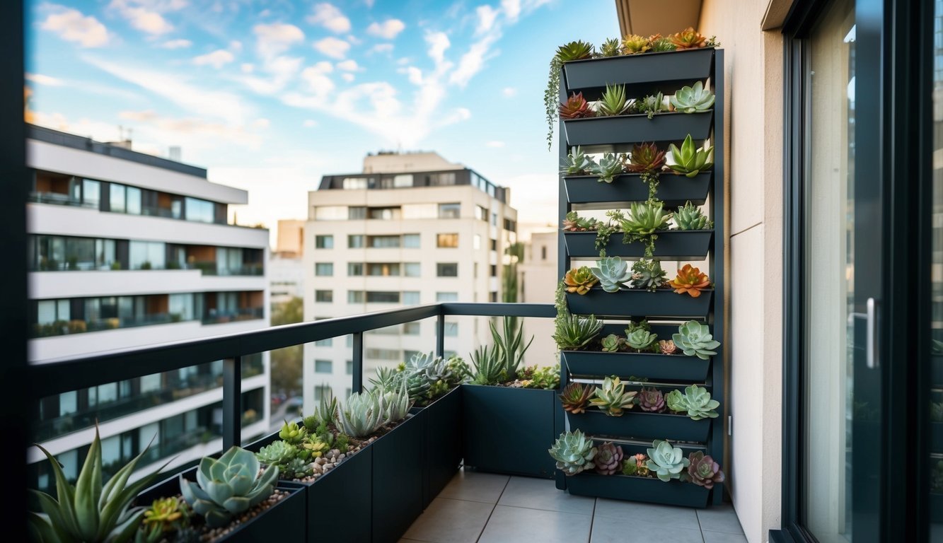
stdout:
<svg viewBox="0 0 943 543">
<path fill-rule="evenodd" d="M 422 513 L 426 410 L 400 422 L 374 441 L 372 450 L 372 541 L 397 541 Z M 356 457 L 356 455 L 355 455 Z M 343 466 L 343 464 L 341 464 Z M 363 488 L 358 488 L 361 492 Z M 343 504 L 350 507 L 350 504 Z M 333 517 L 347 526 L 346 517 Z M 324 540 L 323 538 L 321 540 Z M 347 538 L 340 540 L 348 541 Z"/>
</svg>

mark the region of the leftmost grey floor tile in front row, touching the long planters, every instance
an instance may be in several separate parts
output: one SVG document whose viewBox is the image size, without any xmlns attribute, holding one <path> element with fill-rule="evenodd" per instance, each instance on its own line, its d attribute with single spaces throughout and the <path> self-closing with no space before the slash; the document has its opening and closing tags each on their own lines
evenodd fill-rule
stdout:
<svg viewBox="0 0 943 543">
<path fill-rule="evenodd" d="M 403 535 L 406 540 L 434 543 L 474 543 L 488 523 L 494 506 L 436 498 Z"/>
</svg>

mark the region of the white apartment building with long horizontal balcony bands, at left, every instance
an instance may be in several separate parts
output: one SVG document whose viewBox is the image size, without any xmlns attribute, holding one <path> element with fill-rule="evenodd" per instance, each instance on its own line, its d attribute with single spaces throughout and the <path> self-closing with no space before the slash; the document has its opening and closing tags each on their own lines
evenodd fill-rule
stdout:
<svg viewBox="0 0 943 543">
<path fill-rule="evenodd" d="M 269 325 L 268 230 L 226 223 L 247 192 L 123 145 L 29 126 L 30 360 Z M 269 428 L 268 354 L 242 362 L 243 436 Z M 33 438 L 75 475 L 99 421 L 106 466 L 154 439 L 144 465 L 222 446 L 223 361 L 45 398 Z M 41 452 L 35 483 L 50 484 Z M 159 465 L 159 464 L 157 464 Z M 145 467 L 146 468 L 146 467 Z"/>
</svg>

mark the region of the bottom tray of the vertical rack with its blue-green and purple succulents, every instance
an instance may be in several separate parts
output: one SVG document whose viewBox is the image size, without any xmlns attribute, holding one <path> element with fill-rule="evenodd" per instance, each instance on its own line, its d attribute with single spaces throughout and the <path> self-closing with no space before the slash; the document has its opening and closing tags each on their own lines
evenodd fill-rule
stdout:
<svg viewBox="0 0 943 543">
<path fill-rule="evenodd" d="M 567 476 L 571 494 L 705 507 L 714 485 L 724 480 L 711 456 L 663 439 L 650 448 L 597 444 L 575 430 L 561 434 L 548 452 Z"/>
</svg>

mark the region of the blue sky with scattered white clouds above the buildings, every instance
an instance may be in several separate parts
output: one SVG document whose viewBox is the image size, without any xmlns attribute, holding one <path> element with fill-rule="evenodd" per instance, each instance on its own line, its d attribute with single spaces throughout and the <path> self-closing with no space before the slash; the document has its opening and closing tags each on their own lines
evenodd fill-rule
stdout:
<svg viewBox="0 0 943 543">
<path fill-rule="evenodd" d="M 543 90 L 556 47 L 619 35 L 611 0 L 73 0 L 28 4 L 34 122 L 247 189 L 240 224 L 306 219 L 323 174 L 436 151 L 556 223 Z"/>
</svg>

